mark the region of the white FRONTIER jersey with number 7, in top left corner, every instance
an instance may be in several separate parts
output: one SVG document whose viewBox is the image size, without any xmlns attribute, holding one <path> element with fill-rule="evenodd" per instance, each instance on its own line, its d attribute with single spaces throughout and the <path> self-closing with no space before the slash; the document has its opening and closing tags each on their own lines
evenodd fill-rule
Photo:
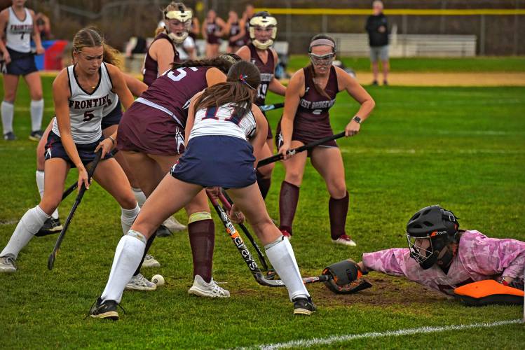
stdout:
<svg viewBox="0 0 525 350">
<path fill-rule="evenodd" d="M 6 25 L 6 46 L 11 50 L 27 53 L 31 51 L 33 18 L 27 8 L 24 8 L 24 11 L 24 20 L 19 20 L 13 8 L 9 8 L 9 20 Z"/>
</svg>

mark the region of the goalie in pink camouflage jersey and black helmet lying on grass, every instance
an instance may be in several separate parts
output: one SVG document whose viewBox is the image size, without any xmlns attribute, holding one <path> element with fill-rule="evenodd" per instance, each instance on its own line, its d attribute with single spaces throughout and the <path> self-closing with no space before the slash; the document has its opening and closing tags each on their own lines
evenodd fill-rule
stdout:
<svg viewBox="0 0 525 350">
<path fill-rule="evenodd" d="M 425 207 L 411 217 L 407 241 L 409 248 L 364 253 L 357 269 L 361 274 L 379 271 L 406 276 L 446 295 L 455 295 L 455 288 L 468 283 L 480 288 L 480 283 L 473 282 L 496 279 L 501 284 L 481 283 L 482 297 L 491 297 L 492 302 L 509 302 L 505 297 L 493 299 L 493 296 L 513 294 L 521 295 L 523 302 L 525 242 L 489 238 L 475 230 L 459 230 L 456 216 L 438 205 Z M 465 293 L 460 291 L 456 296 L 458 294 Z M 467 295 L 471 294 L 480 297 L 479 293 L 467 291 Z M 463 297 L 462 300 L 465 301 Z"/>
</svg>

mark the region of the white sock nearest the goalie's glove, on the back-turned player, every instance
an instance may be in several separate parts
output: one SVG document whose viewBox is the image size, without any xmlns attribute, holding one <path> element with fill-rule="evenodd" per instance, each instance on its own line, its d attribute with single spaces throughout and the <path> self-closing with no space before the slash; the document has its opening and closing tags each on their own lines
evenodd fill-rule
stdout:
<svg viewBox="0 0 525 350">
<path fill-rule="evenodd" d="M 299 296 L 309 297 L 295 261 L 294 250 L 288 239 L 280 237 L 271 244 L 264 246 L 266 256 L 288 289 L 290 300 Z"/>
</svg>

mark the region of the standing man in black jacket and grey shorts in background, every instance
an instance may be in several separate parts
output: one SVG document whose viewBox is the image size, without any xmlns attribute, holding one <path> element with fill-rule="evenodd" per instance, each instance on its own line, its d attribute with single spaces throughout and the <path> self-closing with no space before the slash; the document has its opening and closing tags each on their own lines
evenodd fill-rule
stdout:
<svg viewBox="0 0 525 350">
<path fill-rule="evenodd" d="M 377 84 L 377 76 L 379 75 L 378 59 L 381 59 L 383 64 L 383 85 L 388 85 L 388 22 L 386 15 L 383 15 L 383 2 L 380 0 L 372 3 L 373 15 L 367 19 L 368 40 L 370 45 L 370 61 L 372 64 L 372 72 L 374 73 L 374 81 L 372 85 Z"/>
</svg>

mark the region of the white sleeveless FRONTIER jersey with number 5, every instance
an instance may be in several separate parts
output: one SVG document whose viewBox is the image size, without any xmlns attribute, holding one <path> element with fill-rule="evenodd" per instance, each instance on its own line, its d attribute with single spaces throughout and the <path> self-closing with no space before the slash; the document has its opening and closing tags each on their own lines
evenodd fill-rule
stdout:
<svg viewBox="0 0 525 350">
<path fill-rule="evenodd" d="M 67 77 L 69 78 L 69 120 L 71 123 L 71 136 L 75 144 L 91 144 L 102 137 L 102 117 L 104 109 L 114 103 L 114 96 L 111 92 L 113 85 L 106 68 L 102 62 L 100 66 L 100 77 L 95 90 L 88 94 L 79 85 L 74 74 L 74 66 L 67 67 Z M 108 111 L 109 113 L 110 111 Z M 53 132 L 60 137 L 57 119 L 53 120 Z"/>
</svg>

